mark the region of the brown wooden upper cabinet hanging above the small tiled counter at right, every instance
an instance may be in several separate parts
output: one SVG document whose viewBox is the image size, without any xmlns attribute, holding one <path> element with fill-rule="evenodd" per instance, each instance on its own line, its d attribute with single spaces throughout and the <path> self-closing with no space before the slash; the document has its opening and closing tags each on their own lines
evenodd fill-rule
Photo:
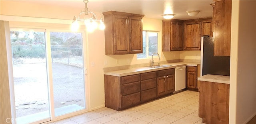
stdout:
<svg viewBox="0 0 256 124">
<path fill-rule="evenodd" d="M 214 55 L 230 56 L 232 0 L 215 0 Z"/>
</svg>

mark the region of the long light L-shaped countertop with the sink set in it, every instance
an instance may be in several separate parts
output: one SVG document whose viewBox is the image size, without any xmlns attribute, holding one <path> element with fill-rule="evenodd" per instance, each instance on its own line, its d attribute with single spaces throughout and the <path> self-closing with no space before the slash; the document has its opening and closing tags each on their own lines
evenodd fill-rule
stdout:
<svg viewBox="0 0 256 124">
<path fill-rule="evenodd" d="M 116 71 L 108 71 L 104 72 L 104 75 L 112 75 L 117 77 L 127 76 L 127 75 L 135 75 L 140 73 L 147 73 L 151 71 L 158 71 L 163 69 L 172 69 L 175 67 L 181 67 L 181 66 L 198 66 L 200 63 L 194 63 L 194 62 L 177 62 L 177 63 L 165 63 L 161 65 L 171 65 L 169 67 L 160 67 L 160 68 L 152 68 L 152 67 L 136 67 L 136 68 L 130 68 L 130 69 L 122 69 L 122 70 L 116 70 Z"/>
</svg>

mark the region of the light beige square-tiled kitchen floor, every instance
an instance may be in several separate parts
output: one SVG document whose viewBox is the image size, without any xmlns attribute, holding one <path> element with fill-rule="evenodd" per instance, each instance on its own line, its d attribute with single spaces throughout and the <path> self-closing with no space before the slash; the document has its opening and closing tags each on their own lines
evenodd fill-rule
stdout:
<svg viewBox="0 0 256 124">
<path fill-rule="evenodd" d="M 204 124 L 198 92 L 183 91 L 130 109 L 100 108 L 50 124 Z"/>
</svg>

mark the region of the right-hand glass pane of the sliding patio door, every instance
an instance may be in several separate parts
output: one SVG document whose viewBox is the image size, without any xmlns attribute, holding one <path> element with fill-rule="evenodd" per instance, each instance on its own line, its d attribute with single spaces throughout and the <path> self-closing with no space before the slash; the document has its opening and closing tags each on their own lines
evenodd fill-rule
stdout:
<svg viewBox="0 0 256 124">
<path fill-rule="evenodd" d="M 85 108 L 82 33 L 50 32 L 55 116 Z"/>
</svg>

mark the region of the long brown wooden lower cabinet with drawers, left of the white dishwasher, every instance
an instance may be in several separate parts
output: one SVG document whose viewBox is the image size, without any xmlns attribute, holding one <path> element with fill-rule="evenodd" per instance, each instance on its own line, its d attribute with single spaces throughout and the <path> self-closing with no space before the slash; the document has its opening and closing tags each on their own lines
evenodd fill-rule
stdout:
<svg viewBox="0 0 256 124">
<path fill-rule="evenodd" d="M 163 77 L 164 93 L 158 95 L 158 78 Z M 128 76 L 104 75 L 105 106 L 124 110 L 150 100 L 172 94 L 174 91 L 174 69 L 152 71 Z"/>
</svg>

